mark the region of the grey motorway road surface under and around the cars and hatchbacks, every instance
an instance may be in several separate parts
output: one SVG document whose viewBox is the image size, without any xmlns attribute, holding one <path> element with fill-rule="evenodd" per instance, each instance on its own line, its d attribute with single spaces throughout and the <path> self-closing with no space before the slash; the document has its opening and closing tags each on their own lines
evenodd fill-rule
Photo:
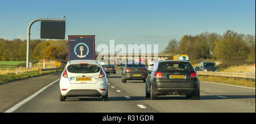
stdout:
<svg viewBox="0 0 256 124">
<path fill-rule="evenodd" d="M 0 112 L 11 109 L 59 77 L 60 73 L 0 85 Z M 152 101 L 145 97 L 143 81 L 123 83 L 121 82 L 121 71 L 109 76 L 108 81 L 108 101 L 101 101 L 101 98 L 97 97 L 84 97 L 68 98 L 61 102 L 59 100 L 59 81 L 56 81 L 13 112 L 255 113 L 255 89 L 201 81 L 200 100 L 192 100 L 185 96 L 160 96 L 158 100 Z"/>
</svg>

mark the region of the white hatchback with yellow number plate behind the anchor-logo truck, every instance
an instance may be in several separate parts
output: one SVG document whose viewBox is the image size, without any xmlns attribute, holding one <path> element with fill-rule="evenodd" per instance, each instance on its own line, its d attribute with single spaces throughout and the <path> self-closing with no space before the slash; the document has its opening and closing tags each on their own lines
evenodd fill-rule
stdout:
<svg viewBox="0 0 256 124">
<path fill-rule="evenodd" d="M 67 97 L 101 97 L 108 100 L 108 79 L 97 60 L 71 60 L 60 76 L 60 101 Z"/>
</svg>

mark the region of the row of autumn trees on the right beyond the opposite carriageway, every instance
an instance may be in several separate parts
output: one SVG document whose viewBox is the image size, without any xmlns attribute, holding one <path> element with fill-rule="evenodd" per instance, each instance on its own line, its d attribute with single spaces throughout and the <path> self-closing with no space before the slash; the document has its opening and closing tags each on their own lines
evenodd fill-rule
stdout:
<svg viewBox="0 0 256 124">
<path fill-rule="evenodd" d="M 255 36 L 232 30 L 224 34 L 203 32 L 171 39 L 164 53 L 187 54 L 191 60 L 215 59 L 226 63 L 255 63 Z"/>
</svg>

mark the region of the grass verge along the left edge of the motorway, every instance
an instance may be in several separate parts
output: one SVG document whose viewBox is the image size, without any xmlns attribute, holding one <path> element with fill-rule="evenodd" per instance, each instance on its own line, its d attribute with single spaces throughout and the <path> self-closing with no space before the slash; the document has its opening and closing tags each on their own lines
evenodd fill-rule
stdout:
<svg viewBox="0 0 256 124">
<path fill-rule="evenodd" d="M 19 74 L 8 74 L 8 75 L 0 75 L 0 84 L 5 83 L 5 82 L 11 82 L 11 81 L 16 81 L 24 78 L 29 78 L 29 77 L 35 77 L 35 76 L 40 76 L 40 75 L 47 75 L 49 73 L 56 73 L 56 72 L 61 72 L 62 69 L 59 69 L 57 71 L 46 71 L 42 73 L 38 73 L 38 71 L 30 71 L 30 72 L 24 72 L 24 73 L 19 73 Z"/>
</svg>

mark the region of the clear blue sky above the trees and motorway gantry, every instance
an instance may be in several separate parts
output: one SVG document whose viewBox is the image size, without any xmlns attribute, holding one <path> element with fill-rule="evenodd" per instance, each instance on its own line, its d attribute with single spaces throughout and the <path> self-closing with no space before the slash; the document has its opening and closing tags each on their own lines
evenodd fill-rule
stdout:
<svg viewBox="0 0 256 124">
<path fill-rule="evenodd" d="M 255 0 L 13 1 L 1 0 L 0 38 L 26 39 L 36 18 L 67 17 L 67 35 L 96 35 L 96 45 L 159 44 L 201 32 L 233 30 L 255 35 Z M 40 22 L 31 39 L 40 38 Z"/>
</svg>

